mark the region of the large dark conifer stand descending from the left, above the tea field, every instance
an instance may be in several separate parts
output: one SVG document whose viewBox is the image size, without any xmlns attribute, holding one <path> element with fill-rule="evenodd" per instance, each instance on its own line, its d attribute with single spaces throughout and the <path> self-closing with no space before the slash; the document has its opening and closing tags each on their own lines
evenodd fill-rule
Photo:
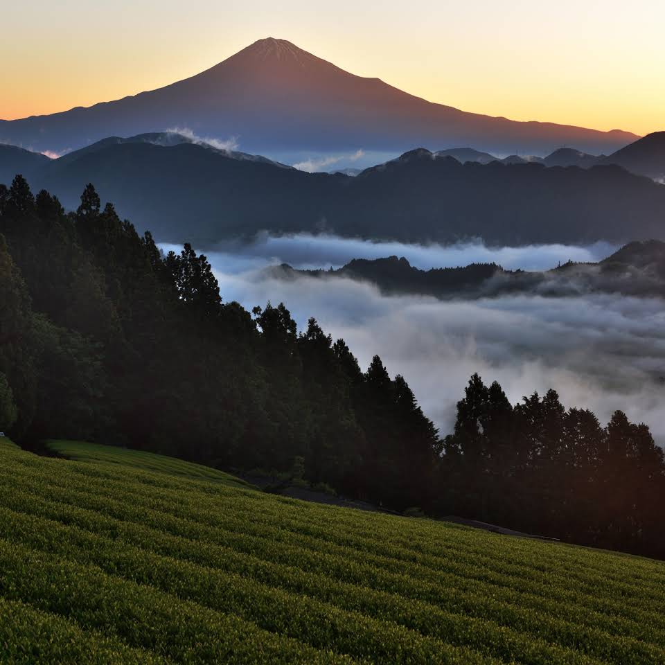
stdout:
<svg viewBox="0 0 665 665">
<path fill-rule="evenodd" d="M 438 436 L 405 380 L 364 373 L 314 319 L 224 303 L 190 245 L 162 256 L 89 185 L 76 213 L 0 186 L 0 428 L 220 468 L 289 471 L 405 508 Z"/>
</svg>

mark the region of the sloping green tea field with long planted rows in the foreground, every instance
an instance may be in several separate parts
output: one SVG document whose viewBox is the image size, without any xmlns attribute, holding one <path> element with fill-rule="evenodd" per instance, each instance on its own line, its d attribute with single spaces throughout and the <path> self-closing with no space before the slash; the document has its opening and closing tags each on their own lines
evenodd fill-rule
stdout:
<svg viewBox="0 0 665 665">
<path fill-rule="evenodd" d="M 662 663 L 665 564 L 0 441 L 0 662 Z"/>
</svg>

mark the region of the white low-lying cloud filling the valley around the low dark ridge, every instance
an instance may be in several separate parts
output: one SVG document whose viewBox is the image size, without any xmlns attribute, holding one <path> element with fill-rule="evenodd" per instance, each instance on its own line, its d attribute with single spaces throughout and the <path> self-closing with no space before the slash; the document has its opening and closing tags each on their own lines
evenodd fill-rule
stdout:
<svg viewBox="0 0 665 665">
<path fill-rule="evenodd" d="M 227 248 L 231 251 L 209 254 L 209 260 L 225 301 L 237 300 L 247 308 L 283 301 L 300 328 L 308 317 L 315 317 L 332 337 L 346 339 L 364 368 L 378 353 L 391 375 L 405 376 L 443 434 L 451 431 L 456 402 L 477 371 L 486 382 L 498 380 L 512 402 L 553 387 L 565 405 L 592 409 L 603 421 L 614 409 L 623 409 L 632 420 L 650 425 L 657 441 L 665 444 L 662 300 L 587 294 L 442 302 L 425 296 L 384 296 L 369 284 L 344 278 L 282 281 L 260 269 L 274 263 L 273 256 L 290 257 L 296 265 L 339 265 L 347 260 L 342 254 L 351 251 L 350 243 L 355 243 L 355 256 L 399 254 L 421 267 L 470 260 L 551 267 L 558 260 L 596 260 L 608 254 L 598 246 L 556 245 L 391 245 L 394 251 L 387 252 L 387 243 L 299 237 Z M 240 247 L 245 248 L 242 254 Z"/>
</svg>

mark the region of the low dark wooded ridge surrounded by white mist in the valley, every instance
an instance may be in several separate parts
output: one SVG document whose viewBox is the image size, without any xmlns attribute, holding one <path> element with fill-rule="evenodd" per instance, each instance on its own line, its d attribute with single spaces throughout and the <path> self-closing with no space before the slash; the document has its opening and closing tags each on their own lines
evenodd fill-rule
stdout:
<svg viewBox="0 0 665 665">
<path fill-rule="evenodd" d="M 354 259 L 337 270 L 296 270 L 282 264 L 266 269 L 279 279 L 310 276 L 351 278 L 377 286 L 384 294 L 419 294 L 439 299 L 491 298 L 508 294 L 576 296 L 621 293 L 665 297 L 665 242 L 630 242 L 599 263 L 565 263 L 544 272 L 504 270 L 495 263 L 420 270 L 402 256 Z"/>
</svg>

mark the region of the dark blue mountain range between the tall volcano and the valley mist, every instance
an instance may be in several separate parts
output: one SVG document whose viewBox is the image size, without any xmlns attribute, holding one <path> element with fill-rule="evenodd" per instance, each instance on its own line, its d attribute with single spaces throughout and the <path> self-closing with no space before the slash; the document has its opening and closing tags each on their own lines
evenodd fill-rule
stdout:
<svg viewBox="0 0 665 665">
<path fill-rule="evenodd" d="M 652 152 L 641 139 L 640 149 Z M 481 237 L 490 243 L 665 239 L 665 186 L 619 166 L 465 164 L 424 148 L 356 177 L 306 173 L 172 134 L 111 138 L 48 160 L 4 146 L 0 181 L 17 172 L 76 209 L 100 197 L 161 241 L 329 231 L 409 242 Z"/>
</svg>

